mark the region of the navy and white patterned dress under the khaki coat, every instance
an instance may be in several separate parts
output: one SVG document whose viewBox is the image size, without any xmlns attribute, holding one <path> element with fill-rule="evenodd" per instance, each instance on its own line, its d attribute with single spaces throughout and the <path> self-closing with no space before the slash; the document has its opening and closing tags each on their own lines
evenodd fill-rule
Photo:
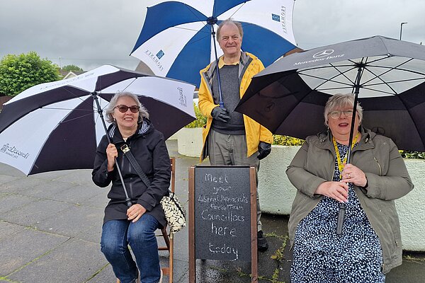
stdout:
<svg viewBox="0 0 425 283">
<path fill-rule="evenodd" d="M 337 144 L 341 158 L 348 146 Z M 335 158 L 336 159 L 336 158 Z M 334 181 L 339 177 L 335 161 Z M 339 202 L 323 197 L 295 232 L 292 283 L 301 282 L 385 282 L 382 248 L 368 217 L 349 184 L 346 216 L 341 235 L 336 235 Z"/>
</svg>

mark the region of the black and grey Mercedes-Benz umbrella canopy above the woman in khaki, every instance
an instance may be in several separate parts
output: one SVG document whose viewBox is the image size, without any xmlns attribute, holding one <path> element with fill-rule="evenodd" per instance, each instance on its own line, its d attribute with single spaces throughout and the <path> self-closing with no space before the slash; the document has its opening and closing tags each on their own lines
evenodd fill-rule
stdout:
<svg viewBox="0 0 425 283">
<path fill-rule="evenodd" d="M 425 151 L 425 46 L 412 42 L 375 36 L 290 54 L 254 76 L 236 110 L 305 139 L 325 130 L 330 96 L 356 92 L 365 127 Z"/>
</svg>

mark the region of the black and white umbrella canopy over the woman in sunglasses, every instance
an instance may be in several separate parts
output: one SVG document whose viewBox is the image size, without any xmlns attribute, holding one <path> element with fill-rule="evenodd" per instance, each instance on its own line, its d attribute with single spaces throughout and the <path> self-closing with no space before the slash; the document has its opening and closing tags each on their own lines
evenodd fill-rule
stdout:
<svg viewBox="0 0 425 283">
<path fill-rule="evenodd" d="M 154 127 L 168 138 L 195 120 L 194 88 L 108 65 L 33 86 L 9 100 L 0 113 L 0 162 L 27 175 L 93 168 L 105 134 L 100 114 L 117 91 L 137 94 Z"/>
</svg>

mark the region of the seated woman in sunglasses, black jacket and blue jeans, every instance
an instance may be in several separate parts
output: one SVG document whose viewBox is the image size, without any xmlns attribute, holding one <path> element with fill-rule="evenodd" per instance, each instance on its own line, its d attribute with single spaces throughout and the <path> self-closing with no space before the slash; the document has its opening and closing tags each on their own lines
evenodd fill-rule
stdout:
<svg viewBox="0 0 425 283">
<path fill-rule="evenodd" d="M 171 178 L 169 154 L 164 135 L 154 129 L 149 114 L 132 93 L 117 93 L 106 108 L 111 122 L 108 135 L 96 151 L 92 178 L 99 187 L 112 183 L 108 193 L 101 236 L 101 250 L 121 283 L 161 282 L 162 271 L 155 230 L 166 224 L 159 203 L 168 193 Z M 132 167 L 121 146 L 127 145 L 151 185 L 147 187 Z M 120 176 L 132 205 L 128 207 Z M 135 255 L 133 260 L 128 246 Z"/>
</svg>

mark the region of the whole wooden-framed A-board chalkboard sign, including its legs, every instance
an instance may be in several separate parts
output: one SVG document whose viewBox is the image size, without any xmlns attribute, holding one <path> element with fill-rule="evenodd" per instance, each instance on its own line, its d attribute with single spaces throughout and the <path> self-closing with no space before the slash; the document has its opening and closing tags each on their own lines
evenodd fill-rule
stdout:
<svg viewBox="0 0 425 283">
<path fill-rule="evenodd" d="M 190 282 L 196 282 L 196 259 L 251 261 L 251 282 L 257 282 L 255 173 L 248 166 L 190 168 Z"/>
</svg>

